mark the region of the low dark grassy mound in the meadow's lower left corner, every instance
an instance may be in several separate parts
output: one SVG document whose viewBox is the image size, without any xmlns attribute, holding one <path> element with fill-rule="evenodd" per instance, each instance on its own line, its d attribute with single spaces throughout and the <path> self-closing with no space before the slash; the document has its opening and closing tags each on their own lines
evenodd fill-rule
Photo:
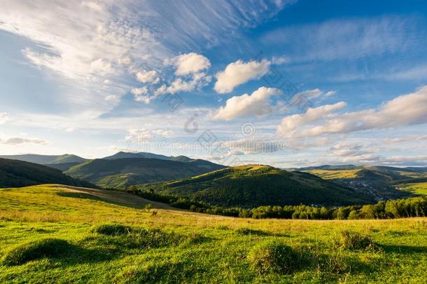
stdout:
<svg viewBox="0 0 427 284">
<path fill-rule="evenodd" d="M 58 238 L 31 241 L 13 248 L 3 257 L 5 265 L 20 265 L 43 257 L 57 257 L 69 250 L 71 245 Z"/>
</svg>

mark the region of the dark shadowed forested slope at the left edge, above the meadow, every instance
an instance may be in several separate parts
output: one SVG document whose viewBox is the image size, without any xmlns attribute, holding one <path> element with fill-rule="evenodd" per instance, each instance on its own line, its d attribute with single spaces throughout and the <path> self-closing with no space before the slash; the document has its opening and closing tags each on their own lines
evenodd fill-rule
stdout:
<svg viewBox="0 0 427 284">
<path fill-rule="evenodd" d="M 89 182 L 76 180 L 45 165 L 0 158 L 0 187 L 25 187 L 47 183 L 94 187 Z"/>
</svg>

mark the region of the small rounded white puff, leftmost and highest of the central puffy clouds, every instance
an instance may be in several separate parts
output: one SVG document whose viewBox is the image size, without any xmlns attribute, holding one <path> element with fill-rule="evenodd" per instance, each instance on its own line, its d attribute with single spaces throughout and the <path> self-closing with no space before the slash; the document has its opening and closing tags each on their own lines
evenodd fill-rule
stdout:
<svg viewBox="0 0 427 284">
<path fill-rule="evenodd" d="M 209 59 L 197 53 L 186 53 L 176 56 L 169 63 L 176 67 L 175 74 L 178 76 L 195 74 L 211 67 Z"/>
</svg>

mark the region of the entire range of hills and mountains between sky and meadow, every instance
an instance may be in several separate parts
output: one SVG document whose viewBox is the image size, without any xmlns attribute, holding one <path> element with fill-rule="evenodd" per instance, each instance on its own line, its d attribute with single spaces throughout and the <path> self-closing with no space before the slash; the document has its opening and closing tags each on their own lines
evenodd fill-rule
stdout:
<svg viewBox="0 0 427 284">
<path fill-rule="evenodd" d="M 228 168 L 186 156 L 124 151 L 91 160 L 71 154 L 2 157 L 9 159 L 1 159 L 0 187 L 61 183 L 124 190 L 135 185 L 143 191 L 225 207 L 373 203 L 409 196 L 411 193 L 398 189 L 411 182 L 427 182 L 427 168 L 414 167 L 321 165 L 282 170 L 268 165 L 242 165 Z"/>
</svg>

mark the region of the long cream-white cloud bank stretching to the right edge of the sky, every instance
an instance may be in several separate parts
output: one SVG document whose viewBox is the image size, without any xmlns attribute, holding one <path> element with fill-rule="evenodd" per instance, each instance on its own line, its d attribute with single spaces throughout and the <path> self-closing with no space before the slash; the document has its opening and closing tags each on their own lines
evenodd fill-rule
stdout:
<svg viewBox="0 0 427 284">
<path fill-rule="evenodd" d="M 396 97 L 378 109 L 333 113 L 345 105 L 344 102 L 327 104 L 309 108 L 304 114 L 287 116 L 277 127 L 277 133 L 286 137 L 313 137 L 427 123 L 427 86 Z"/>
</svg>

